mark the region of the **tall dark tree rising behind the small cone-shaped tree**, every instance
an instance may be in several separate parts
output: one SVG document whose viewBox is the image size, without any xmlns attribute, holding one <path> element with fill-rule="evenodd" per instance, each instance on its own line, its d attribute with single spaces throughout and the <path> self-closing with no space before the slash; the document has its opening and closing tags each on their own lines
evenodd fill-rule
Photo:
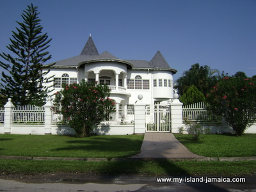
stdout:
<svg viewBox="0 0 256 192">
<path fill-rule="evenodd" d="M 198 63 L 191 66 L 189 70 L 186 70 L 182 77 L 177 79 L 175 88 L 179 91 L 180 97 L 186 93 L 186 91 L 192 85 L 202 92 L 204 95 L 209 92 L 209 88 L 214 86 L 220 78 L 220 71 L 217 69 L 211 69 L 209 66 L 200 66 Z"/>
</svg>

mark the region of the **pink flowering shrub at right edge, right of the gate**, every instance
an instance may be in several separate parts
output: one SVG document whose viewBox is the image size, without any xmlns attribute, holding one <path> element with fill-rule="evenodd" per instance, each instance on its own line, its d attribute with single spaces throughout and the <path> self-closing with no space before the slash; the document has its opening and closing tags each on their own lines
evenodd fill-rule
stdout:
<svg viewBox="0 0 256 192">
<path fill-rule="evenodd" d="M 222 115 L 237 136 L 256 120 L 256 81 L 224 77 L 209 94 L 207 102 L 214 114 Z"/>
</svg>

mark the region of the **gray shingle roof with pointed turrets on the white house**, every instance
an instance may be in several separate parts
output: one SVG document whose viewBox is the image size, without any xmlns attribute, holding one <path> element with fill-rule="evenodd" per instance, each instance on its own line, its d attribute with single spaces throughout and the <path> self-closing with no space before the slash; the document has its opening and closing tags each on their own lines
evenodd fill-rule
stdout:
<svg viewBox="0 0 256 192">
<path fill-rule="evenodd" d="M 173 72 L 177 72 L 177 70 L 170 68 L 170 65 L 166 62 L 163 55 L 160 51 L 157 51 L 155 56 L 152 58 L 151 61 L 146 60 L 120 60 L 113 56 L 108 51 L 102 52 L 102 54 L 99 54 L 97 51 L 97 48 L 92 40 L 92 37 L 90 36 L 84 45 L 83 50 L 81 51 L 81 54 L 79 56 L 74 56 L 72 58 L 68 58 L 66 60 L 57 61 L 56 64 L 53 67 L 78 67 L 79 63 L 90 63 L 90 60 L 119 60 L 124 61 L 124 63 L 128 64 L 131 63 L 132 68 L 154 68 L 154 69 L 161 69 L 164 70 L 172 70 Z M 88 62 L 86 62 L 88 61 Z M 128 64 L 129 65 L 129 64 Z"/>
</svg>

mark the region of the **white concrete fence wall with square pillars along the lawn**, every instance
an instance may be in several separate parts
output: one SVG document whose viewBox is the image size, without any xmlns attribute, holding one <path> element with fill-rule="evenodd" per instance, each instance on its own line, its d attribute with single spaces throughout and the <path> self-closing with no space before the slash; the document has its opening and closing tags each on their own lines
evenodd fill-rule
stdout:
<svg viewBox="0 0 256 192">
<path fill-rule="evenodd" d="M 179 96 L 174 94 L 174 99 L 170 102 L 171 113 L 171 132 L 178 133 L 180 127 L 186 128 L 182 116 L 182 103 L 178 99 Z M 122 124 L 118 122 L 104 122 L 93 130 L 95 134 L 143 134 L 146 132 L 146 104 L 143 103 L 143 96 L 138 97 L 139 100 L 134 104 L 134 124 Z M 12 100 L 4 106 L 4 110 L 0 109 L 0 134 L 75 134 L 74 129 L 68 125 L 54 124 L 52 115 L 51 99 L 47 100 L 44 106 L 44 123 L 36 124 L 36 122 L 19 123 L 13 122 L 13 111 L 15 106 Z M 41 111 L 42 112 L 42 111 Z M 4 113 L 4 114 L 3 114 Z M 36 113 L 34 111 L 34 113 Z M 225 121 L 218 123 L 202 122 L 202 127 L 211 129 L 212 133 L 232 132 Z M 256 133 L 256 124 L 246 129 L 246 133 Z"/>
</svg>

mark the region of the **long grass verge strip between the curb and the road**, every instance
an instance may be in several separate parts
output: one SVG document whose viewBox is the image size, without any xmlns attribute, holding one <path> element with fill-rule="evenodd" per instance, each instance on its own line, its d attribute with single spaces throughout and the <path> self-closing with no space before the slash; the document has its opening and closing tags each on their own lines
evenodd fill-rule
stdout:
<svg viewBox="0 0 256 192">
<path fill-rule="evenodd" d="M 105 175 L 255 175 L 256 161 L 33 161 L 0 159 L 0 173 Z"/>
</svg>

